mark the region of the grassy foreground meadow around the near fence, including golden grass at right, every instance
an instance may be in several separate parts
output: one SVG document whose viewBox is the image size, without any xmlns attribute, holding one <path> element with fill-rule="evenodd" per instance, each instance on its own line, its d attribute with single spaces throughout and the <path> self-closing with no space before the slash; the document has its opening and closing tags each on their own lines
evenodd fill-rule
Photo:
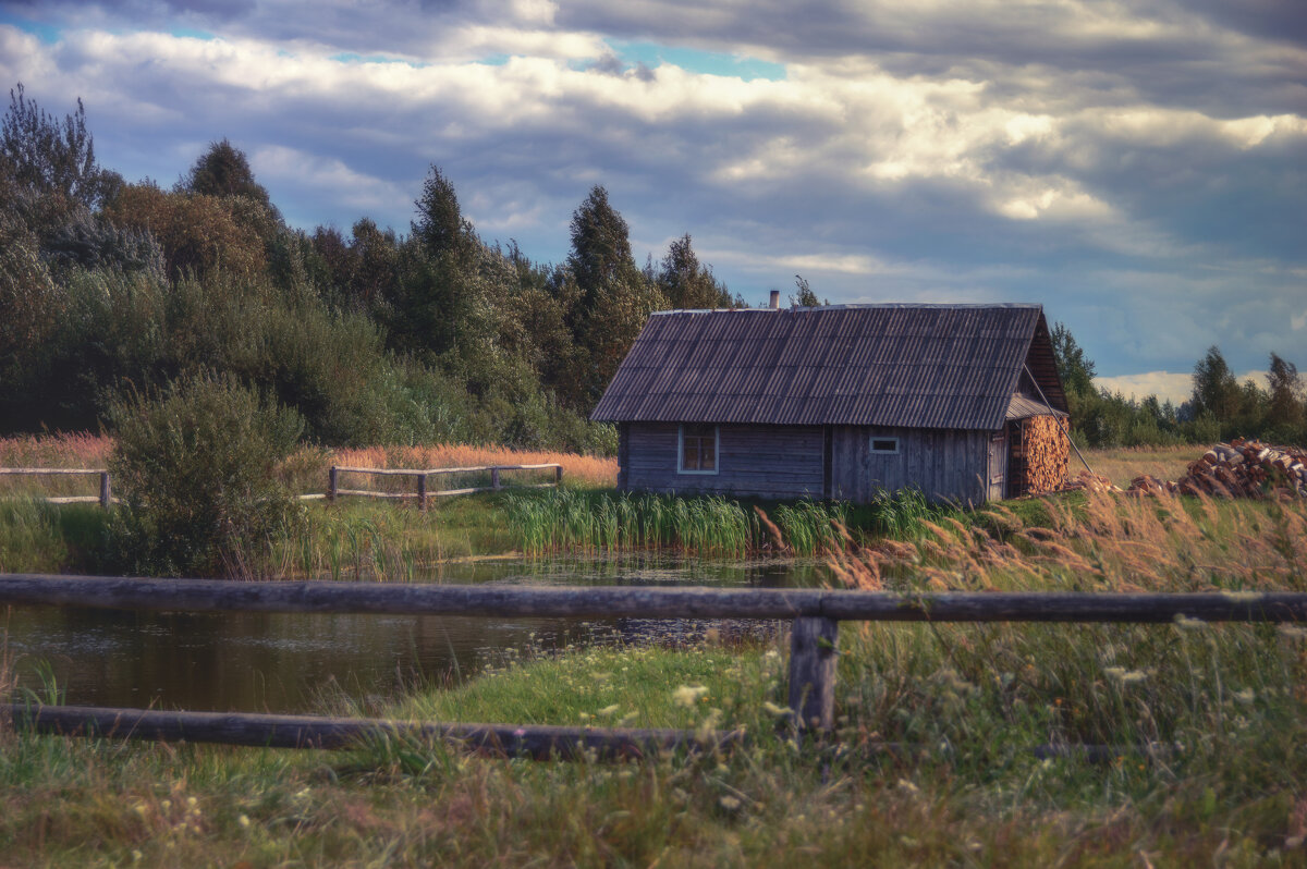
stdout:
<svg viewBox="0 0 1307 869">
<path fill-rule="evenodd" d="M 912 528 L 844 541 L 830 584 L 1307 591 L 1300 502 L 1077 493 Z M 844 623 L 839 649 L 831 740 L 788 729 L 783 639 L 711 631 L 693 646 L 523 648 L 457 686 L 414 683 L 367 708 L 322 700 L 704 737 L 693 754 L 617 763 L 7 728 L 0 852 L 146 866 L 1307 864 L 1307 627 Z M 719 750 L 718 729 L 750 741 Z"/>
</svg>

